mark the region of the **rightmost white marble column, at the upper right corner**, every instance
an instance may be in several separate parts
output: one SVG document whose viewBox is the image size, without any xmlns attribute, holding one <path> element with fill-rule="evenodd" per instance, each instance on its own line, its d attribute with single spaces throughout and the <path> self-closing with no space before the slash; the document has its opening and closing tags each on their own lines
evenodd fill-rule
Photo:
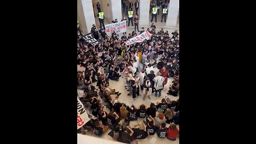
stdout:
<svg viewBox="0 0 256 144">
<path fill-rule="evenodd" d="M 168 9 L 166 26 L 176 27 L 179 14 L 179 0 L 171 0 Z"/>
</svg>

